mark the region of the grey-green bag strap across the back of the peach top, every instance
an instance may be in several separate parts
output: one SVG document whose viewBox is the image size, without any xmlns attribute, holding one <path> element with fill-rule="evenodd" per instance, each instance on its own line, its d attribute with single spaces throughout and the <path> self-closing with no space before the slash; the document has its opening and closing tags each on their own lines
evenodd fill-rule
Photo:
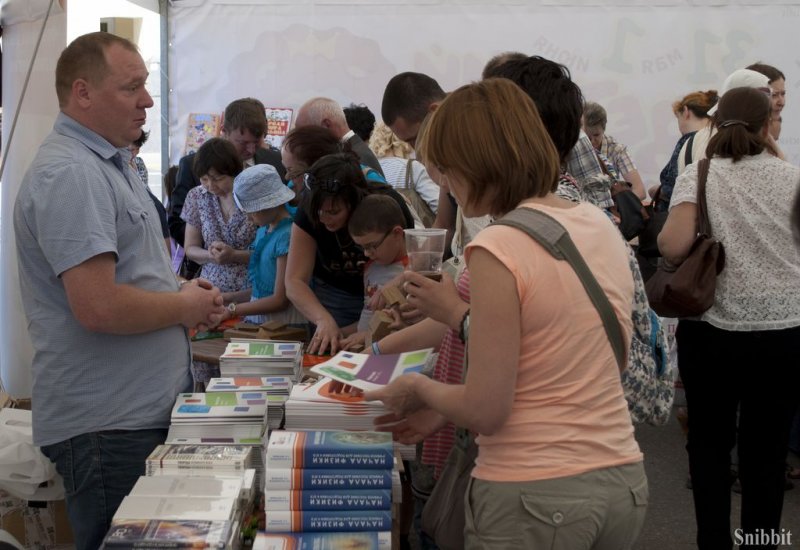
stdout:
<svg viewBox="0 0 800 550">
<path fill-rule="evenodd" d="M 614 350 L 614 357 L 617 359 L 619 370 L 624 370 L 627 360 L 625 356 L 625 340 L 619 327 L 617 314 L 614 313 L 605 291 L 592 275 L 591 269 L 589 269 L 564 226 L 553 217 L 532 208 L 512 210 L 499 220 L 495 220 L 492 225 L 507 225 L 527 233 L 554 258 L 564 260 L 572 266 L 581 284 L 583 284 L 583 288 L 586 289 L 589 299 L 597 309 L 597 313 L 600 314 L 600 319 L 603 321 L 603 327 L 606 330 L 606 336 L 611 343 L 611 348 Z"/>
</svg>

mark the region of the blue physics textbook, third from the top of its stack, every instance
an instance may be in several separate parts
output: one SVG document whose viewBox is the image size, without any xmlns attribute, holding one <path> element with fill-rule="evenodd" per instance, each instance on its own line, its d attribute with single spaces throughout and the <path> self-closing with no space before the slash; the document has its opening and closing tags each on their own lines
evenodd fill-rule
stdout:
<svg viewBox="0 0 800 550">
<path fill-rule="evenodd" d="M 390 489 L 340 490 L 306 489 L 304 491 L 268 491 L 264 495 L 267 511 L 311 510 L 390 510 Z"/>
</svg>

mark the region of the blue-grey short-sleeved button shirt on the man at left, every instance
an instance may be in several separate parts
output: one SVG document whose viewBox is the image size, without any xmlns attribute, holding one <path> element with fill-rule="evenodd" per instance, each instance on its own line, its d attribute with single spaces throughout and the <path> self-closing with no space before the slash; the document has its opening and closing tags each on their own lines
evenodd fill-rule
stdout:
<svg viewBox="0 0 800 550">
<path fill-rule="evenodd" d="M 191 386 L 186 330 L 86 330 L 61 274 L 116 256 L 116 281 L 154 292 L 178 283 L 158 216 L 118 149 L 61 113 L 22 181 L 14 208 L 22 302 L 35 350 L 33 439 L 50 445 L 103 430 L 166 428 Z"/>
</svg>

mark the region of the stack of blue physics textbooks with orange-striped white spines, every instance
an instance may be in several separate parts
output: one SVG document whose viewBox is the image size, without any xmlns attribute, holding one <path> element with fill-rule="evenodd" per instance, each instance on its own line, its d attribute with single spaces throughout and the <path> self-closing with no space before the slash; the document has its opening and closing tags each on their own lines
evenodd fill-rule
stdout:
<svg viewBox="0 0 800 550">
<path fill-rule="evenodd" d="M 400 485 L 390 433 L 273 431 L 265 478 L 267 533 L 370 532 L 390 540 Z"/>
</svg>

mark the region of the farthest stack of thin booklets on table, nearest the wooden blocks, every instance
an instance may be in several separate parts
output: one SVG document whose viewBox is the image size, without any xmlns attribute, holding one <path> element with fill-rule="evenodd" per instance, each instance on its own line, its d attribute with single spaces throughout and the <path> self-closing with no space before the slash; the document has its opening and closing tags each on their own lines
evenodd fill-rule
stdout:
<svg viewBox="0 0 800 550">
<path fill-rule="evenodd" d="M 288 376 L 300 381 L 303 369 L 303 345 L 300 342 L 233 339 L 219 358 L 220 375 Z"/>
</svg>

